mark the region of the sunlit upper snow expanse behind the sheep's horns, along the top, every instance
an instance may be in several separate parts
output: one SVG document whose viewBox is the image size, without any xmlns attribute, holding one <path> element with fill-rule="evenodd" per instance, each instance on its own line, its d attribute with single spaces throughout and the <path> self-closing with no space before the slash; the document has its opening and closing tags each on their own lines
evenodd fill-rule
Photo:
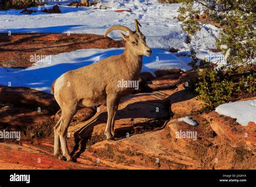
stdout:
<svg viewBox="0 0 256 187">
<path fill-rule="evenodd" d="M 0 11 L 0 32 L 104 34 L 113 25 L 124 25 L 134 30 L 134 19 L 138 19 L 150 47 L 168 51 L 175 47 L 180 51 L 189 51 L 190 46 L 185 43 L 186 34 L 176 18 L 181 4 L 160 4 L 157 0 L 100 2 L 97 6 L 104 4 L 110 9 L 101 10 L 97 6 L 75 8 L 62 4 L 60 14 L 40 12 L 37 8 L 31 8 L 37 10 L 31 15 L 19 13 L 21 10 Z M 52 8 L 52 5 L 45 5 L 41 10 L 44 8 Z M 132 12 L 114 12 L 120 9 Z M 207 49 L 215 47 L 214 37 L 217 34 L 217 27 L 206 25 L 193 37 L 191 45 L 196 51 L 207 55 Z M 109 36 L 120 39 L 119 31 L 113 31 Z"/>
</svg>

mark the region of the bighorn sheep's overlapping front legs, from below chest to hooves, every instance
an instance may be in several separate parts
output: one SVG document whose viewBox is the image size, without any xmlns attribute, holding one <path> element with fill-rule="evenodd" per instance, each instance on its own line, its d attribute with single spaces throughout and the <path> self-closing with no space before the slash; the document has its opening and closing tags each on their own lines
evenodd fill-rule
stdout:
<svg viewBox="0 0 256 187">
<path fill-rule="evenodd" d="M 114 107 L 116 106 L 117 97 L 116 96 L 107 96 L 107 125 L 104 134 L 106 135 L 107 140 L 113 140 L 113 135 L 111 134 L 111 123 L 114 118 Z"/>
</svg>

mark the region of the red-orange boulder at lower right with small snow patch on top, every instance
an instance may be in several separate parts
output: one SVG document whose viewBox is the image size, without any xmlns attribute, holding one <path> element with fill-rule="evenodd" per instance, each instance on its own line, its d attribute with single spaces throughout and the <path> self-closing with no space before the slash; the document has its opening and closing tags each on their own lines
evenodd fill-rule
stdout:
<svg viewBox="0 0 256 187">
<path fill-rule="evenodd" d="M 192 126 L 177 119 L 167 124 L 173 149 L 192 157 L 193 161 L 200 163 L 200 169 L 256 168 L 256 156 L 251 151 L 241 151 L 228 145 L 226 140 L 213 131 L 205 114 L 190 118 L 199 125 Z"/>
</svg>

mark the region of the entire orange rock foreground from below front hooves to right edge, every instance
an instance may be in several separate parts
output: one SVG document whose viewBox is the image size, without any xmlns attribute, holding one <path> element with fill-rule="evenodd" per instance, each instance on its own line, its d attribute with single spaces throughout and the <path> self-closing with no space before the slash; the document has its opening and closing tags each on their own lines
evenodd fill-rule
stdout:
<svg viewBox="0 0 256 187">
<path fill-rule="evenodd" d="M 191 126 L 177 119 L 163 128 L 99 141 L 80 153 L 81 161 L 89 153 L 102 163 L 122 169 L 253 169 L 255 155 L 230 147 L 212 130 L 204 115 L 191 117 L 199 125 Z M 177 134 L 183 134 L 185 136 Z M 190 136 L 194 133 L 195 136 Z M 187 136 L 186 136 L 187 135 Z"/>
</svg>

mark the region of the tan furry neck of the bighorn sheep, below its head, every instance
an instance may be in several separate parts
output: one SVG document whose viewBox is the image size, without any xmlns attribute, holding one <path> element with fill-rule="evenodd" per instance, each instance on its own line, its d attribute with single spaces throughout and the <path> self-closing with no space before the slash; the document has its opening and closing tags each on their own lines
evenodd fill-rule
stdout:
<svg viewBox="0 0 256 187">
<path fill-rule="evenodd" d="M 142 55 L 134 54 L 131 49 L 126 45 L 124 49 L 125 64 L 127 71 L 134 76 L 139 76 L 140 70 L 142 70 Z"/>
</svg>

